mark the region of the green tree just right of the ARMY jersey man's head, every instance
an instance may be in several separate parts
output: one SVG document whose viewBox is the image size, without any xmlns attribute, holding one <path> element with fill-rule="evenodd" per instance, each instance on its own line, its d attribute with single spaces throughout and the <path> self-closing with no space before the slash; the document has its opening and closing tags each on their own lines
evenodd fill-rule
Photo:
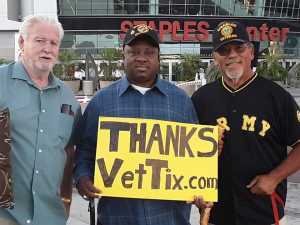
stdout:
<svg viewBox="0 0 300 225">
<path fill-rule="evenodd" d="M 288 71 L 279 63 L 284 59 L 279 43 L 272 42 L 263 56 L 264 60 L 259 63 L 257 73 L 270 80 L 285 82 Z"/>
</svg>

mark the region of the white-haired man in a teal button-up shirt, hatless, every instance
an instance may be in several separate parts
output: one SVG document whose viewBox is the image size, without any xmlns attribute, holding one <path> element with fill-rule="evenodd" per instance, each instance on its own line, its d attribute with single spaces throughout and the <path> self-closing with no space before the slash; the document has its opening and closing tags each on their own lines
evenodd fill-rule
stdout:
<svg viewBox="0 0 300 225">
<path fill-rule="evenodd" d="M 13 209 L 0 208 L 1 225 L 67 221 L 64 203 L 70 199 L 61 197 L 61 184 L 81 112 L 71 90 L 51 73 L 62 38 L 57 19 L 27 17 L 20 28 L 20 61 L 0 68 L 0 110 L 8 108 L 11 116 L 15 201 Z"/>
</svg>

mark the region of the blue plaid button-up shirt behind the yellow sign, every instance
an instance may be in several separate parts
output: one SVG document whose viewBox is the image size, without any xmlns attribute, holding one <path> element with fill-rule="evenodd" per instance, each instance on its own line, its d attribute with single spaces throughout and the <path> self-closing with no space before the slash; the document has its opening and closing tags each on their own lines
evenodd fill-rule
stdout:
<svg viewBox="0 0 300 225">
<path fill-rule="evenodd" d="M 99 116 L 160 119 L 197 123 L 190 98 L 161 79 L 142 95 L 126 78 L 99 91 L 80 122 L 75 179 L 93 177 Z M 101 140 L 100 140 L 101 141 Z M 190 206 L 185 202 L 102 197 L 98 219 L 103 225 L 188 225 Z"/>
</svg>

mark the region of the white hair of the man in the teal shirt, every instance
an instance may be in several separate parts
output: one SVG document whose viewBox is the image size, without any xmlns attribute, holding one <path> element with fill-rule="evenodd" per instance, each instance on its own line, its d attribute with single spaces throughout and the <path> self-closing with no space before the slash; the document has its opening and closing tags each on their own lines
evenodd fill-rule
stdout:
<svg viewBox="0 0 300 225">
<path fill-rule="evenodd" d="M 64 37 L 64 30 L 62 28 L 61 23 L 57 18 L 47 16 L 47 15 L 29 15 L 26 16 L 23 23 L 20 26 L 19 35 L 27 38 L 29 36 L 29 29 L 36 23 L 46 22 L 55 26 L 58 30 L 59 40 L 61 41 Z"/>
</svg>

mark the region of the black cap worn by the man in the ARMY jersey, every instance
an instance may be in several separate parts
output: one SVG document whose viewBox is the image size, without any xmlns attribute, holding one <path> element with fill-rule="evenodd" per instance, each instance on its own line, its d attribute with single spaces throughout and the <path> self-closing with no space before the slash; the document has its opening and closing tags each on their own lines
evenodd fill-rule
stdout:
<svg viewBox="0 0 300 225">
<path fill-rule="evenodd" d="M 249 41 L 249 35 L 245 26 L 236 21 L 221 22 L 213 32 L 214 51 L 231 42 L 247 43 Z"/>
</svg>

